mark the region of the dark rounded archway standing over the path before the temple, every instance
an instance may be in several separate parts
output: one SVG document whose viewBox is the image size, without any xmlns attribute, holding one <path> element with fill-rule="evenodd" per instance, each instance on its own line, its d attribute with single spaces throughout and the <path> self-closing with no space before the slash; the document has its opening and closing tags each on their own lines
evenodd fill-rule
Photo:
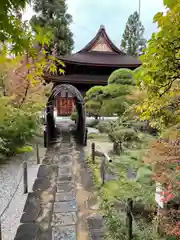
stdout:
<svg viewBox="0 0 180 240">
<path fill-rule="evenodd" d="M 86 110 L 83 96 L 79 90 L 70 84 L 60 84 L 52 89 L 52 93 L 48 99 L 46 105 L 46 139 L 47 144 L 51 143 L 53 138 L 55 138 L 56 128 L 55 128 L 55 119 L 54 119 L 54 102 L 56 97 L 61 93 L 61 91 L 67 91 L 72 94 L 74 97 L 74 102 L 77 110 L 77 119 L 76 119 L 76 135 L 78 141 L 81 145 L 86 145 L 87 139 L 87 130 L 86 130 Z"/>
</svg>

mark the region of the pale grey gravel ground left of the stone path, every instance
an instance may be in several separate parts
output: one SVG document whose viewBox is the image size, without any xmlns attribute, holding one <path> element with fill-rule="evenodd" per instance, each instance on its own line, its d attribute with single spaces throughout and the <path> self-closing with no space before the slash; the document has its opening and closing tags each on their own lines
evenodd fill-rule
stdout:
<svg viewBox="0 0 180 240">
<path fill-rule="evenodd" d="M 41 159 L 44 157 L 45 151 L 45 148 L 39 147 Z M 12 202 L 1 217 L 2 240 L 13 240 L 20 224 L 20 218 L 27 199 L 27 194 L 23 194 L 23 171 L 21 164 L 26 159 L 28 159 L 28 189 L 30 192 L 39 168 L 39 165 L 36 163 L 35 151 L 13 157 L 6 164 L 0 165 L 0 213 L 7 206 L 14 191 L 17 189 Z"/>
</svg>

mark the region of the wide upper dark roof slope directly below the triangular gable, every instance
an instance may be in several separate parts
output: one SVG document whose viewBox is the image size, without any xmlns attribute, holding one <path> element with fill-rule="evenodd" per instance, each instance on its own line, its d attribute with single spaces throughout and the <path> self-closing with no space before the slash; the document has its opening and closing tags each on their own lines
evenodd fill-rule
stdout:
<svg viewBox="0 0 180 240">
<path fill-rule="evenodd" d="M 131 56 L 115 52 L 79 52 L 67 57 L 60 57 L 65 63 L 80 65 L 112 66 L 112 67 L 138 67 L 141 62 Z"/>
</svg>

